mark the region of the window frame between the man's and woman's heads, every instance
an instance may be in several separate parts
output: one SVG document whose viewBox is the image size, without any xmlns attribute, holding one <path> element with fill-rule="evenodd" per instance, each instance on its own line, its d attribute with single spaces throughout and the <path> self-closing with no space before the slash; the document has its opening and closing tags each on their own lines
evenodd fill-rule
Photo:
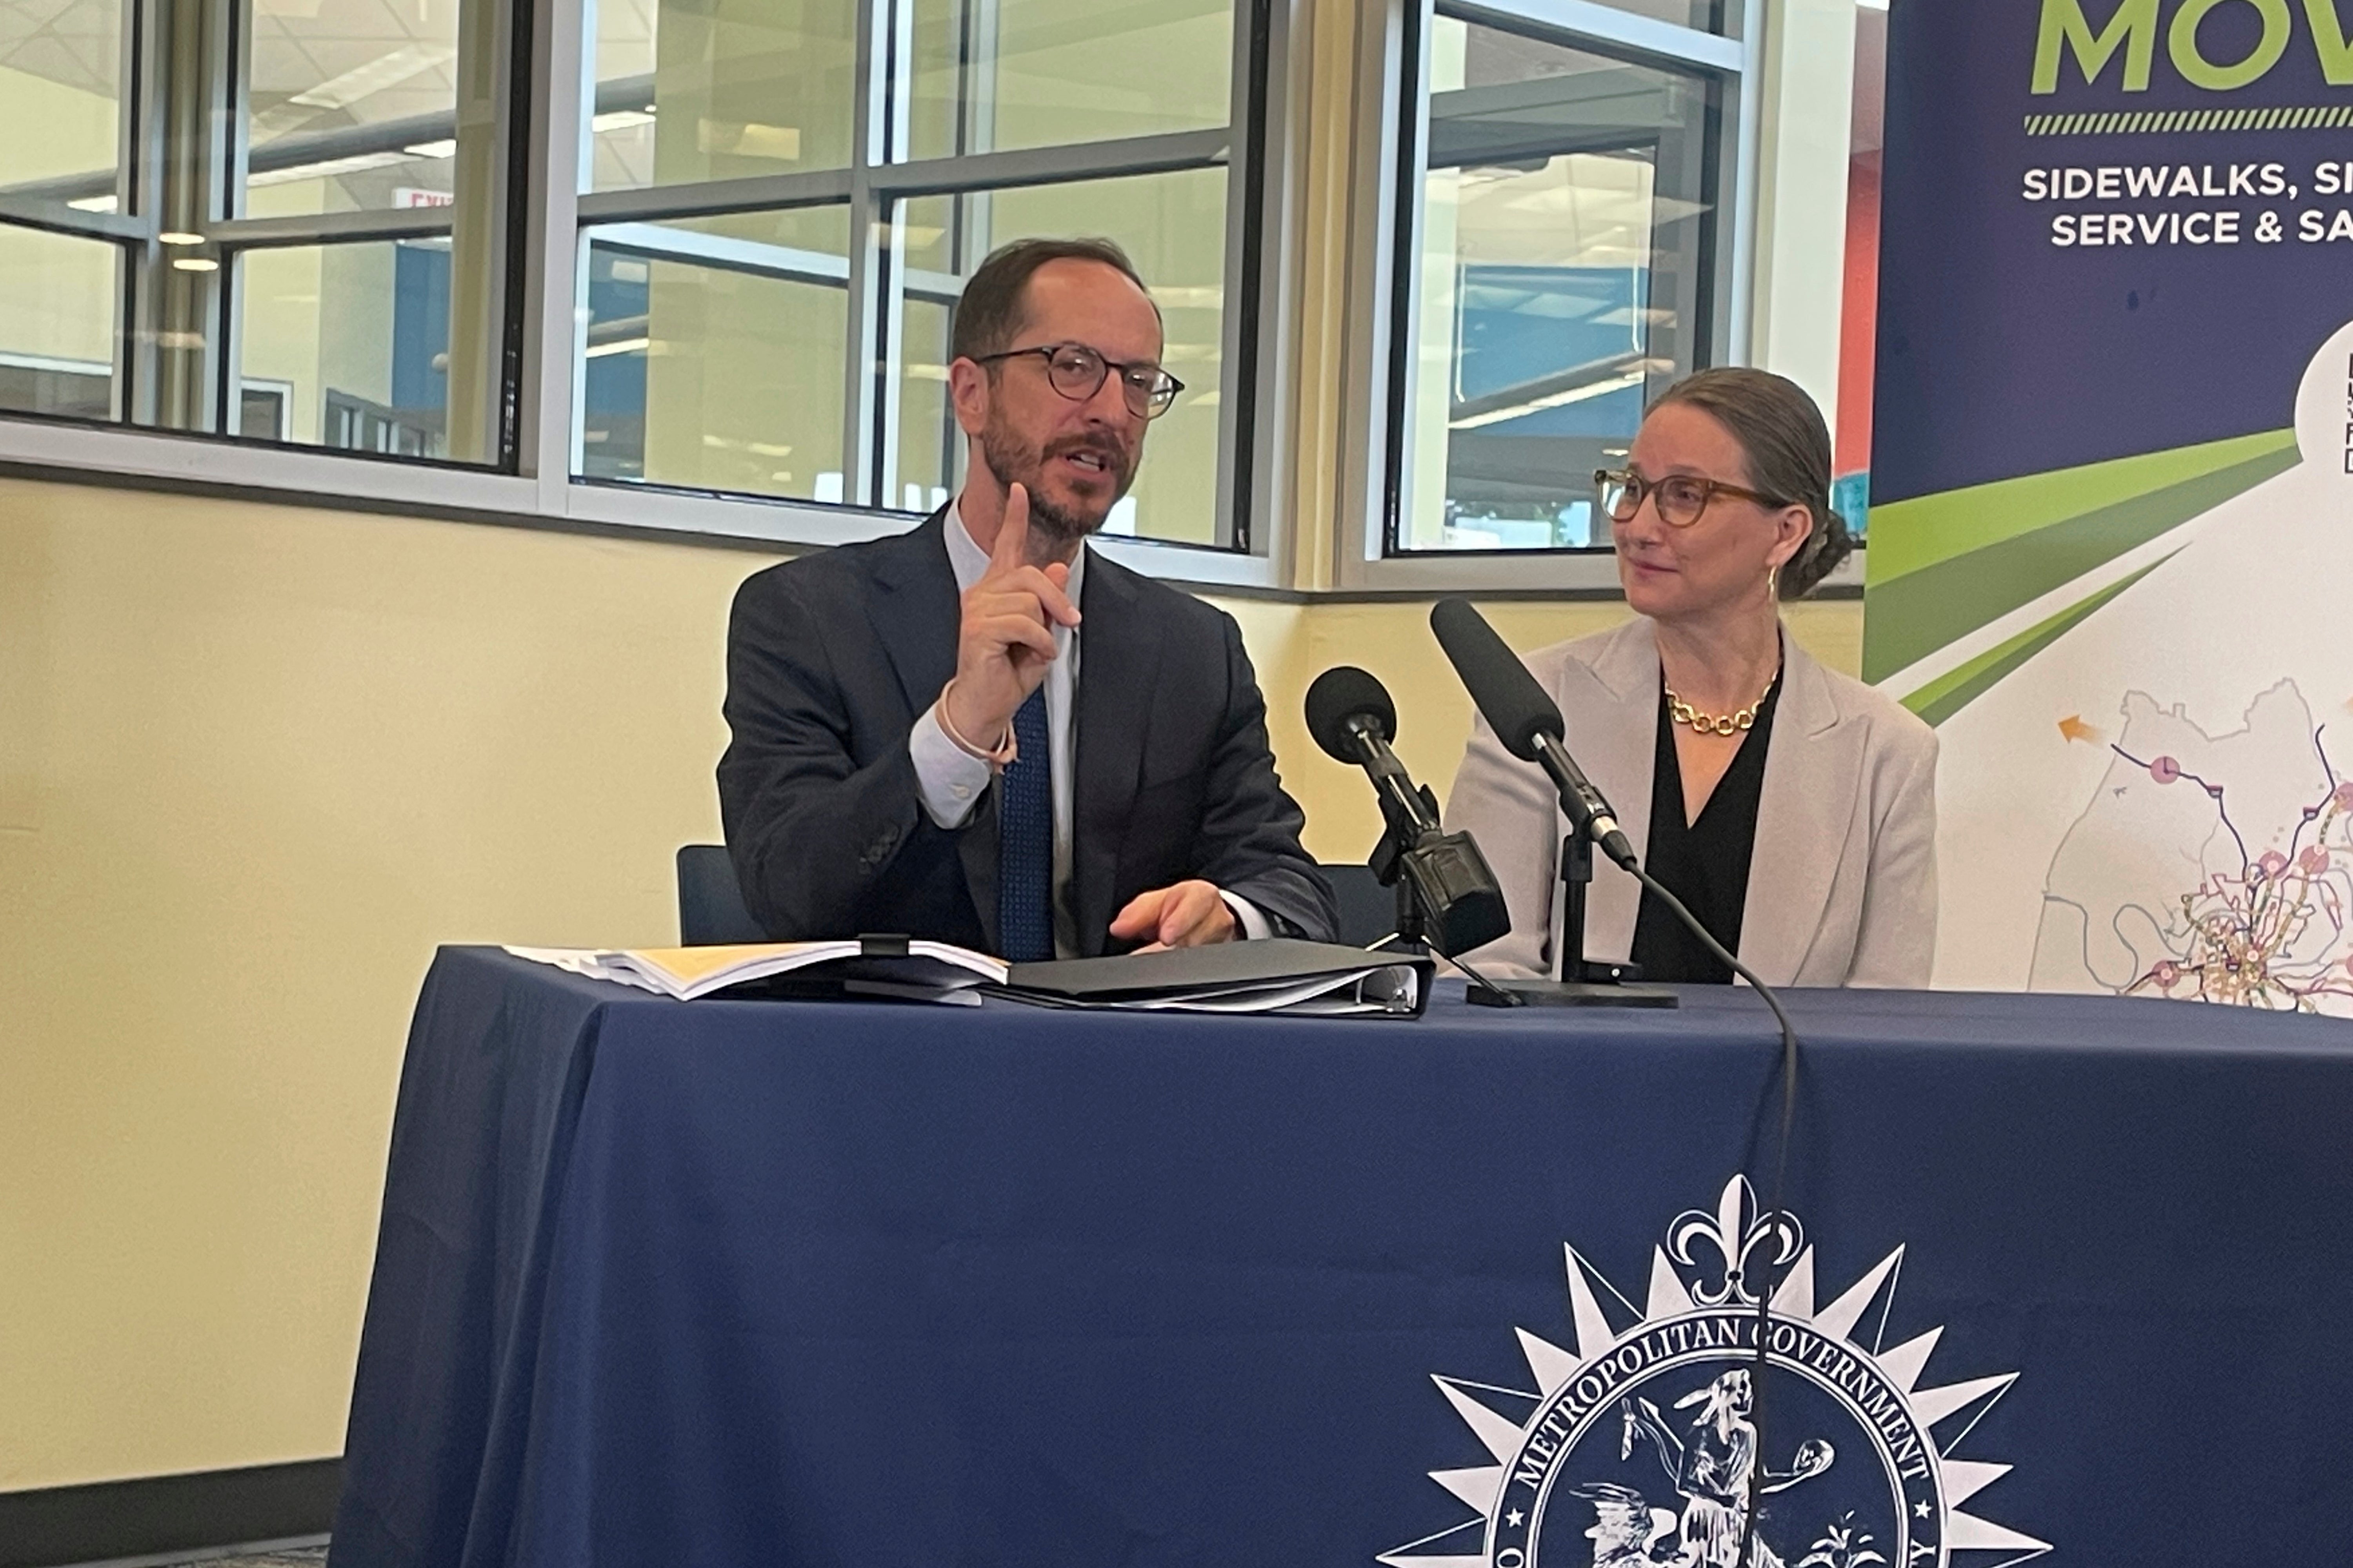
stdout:
<svg viewBox="0 0 2353 1568">
<path fill-rule="evenodd" d="M 1447 16 L 1473 26 L 1544 38 L 1635 66 L 1704 75 L 1720 94 L 1718 226 L 1711 343 L 1713 362 L 1746 364 L 1755 301 L 1755 190 L 1765 99 L 1767 0 L 1722 0 L 1725 33 L 1640 16 L 1600 0 L 1445 0 Z M 1431 141 L 1428 47 L 1438 0 L 1388 0 L 1384 49 L 1367 52 L 1358 85 L 1360 120 L 1379 134 L 1377 167 L 1362 174 L 1351 235 L 1351 296 L 1372 301 L 1351 322 L 1346 388 L 1344 496 L 1334 529 L 1334 585 L 1348 592 L 1445 595 L 1537 592 L 1544 597 L 1621 597 L 1607 550 L 1417 550 L 1388 552 L 1407 482 L 1412 364 L 1400 324 L 1414 320 L 1419 289 L 1405 259 L 1421 242 L 1421 158 Z M 1393 113 L 1407 103 L 1412 113 Z M 1365 134 L 1365 127 L 1360 127 Z"/>
</svg>

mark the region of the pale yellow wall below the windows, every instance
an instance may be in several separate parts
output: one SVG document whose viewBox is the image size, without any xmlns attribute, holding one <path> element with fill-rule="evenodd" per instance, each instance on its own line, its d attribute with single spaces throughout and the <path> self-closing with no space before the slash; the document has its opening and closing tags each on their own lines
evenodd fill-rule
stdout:
<svg viewBox="0 0 2353 1568">
<path fill-rule="evenodd" d="M 659 943 L 765 557 L 0 482 L 0 1490 L 329 1455 L 435 943 Z M 1332 663 L 1440 792 L 1424 604 L 1228 602 L 1318 856 Z M 1614 604 L 1497 604 L 1520 646 Z M 1854 604 L 1800 607 L 1854 668 Z"/>
</svg>

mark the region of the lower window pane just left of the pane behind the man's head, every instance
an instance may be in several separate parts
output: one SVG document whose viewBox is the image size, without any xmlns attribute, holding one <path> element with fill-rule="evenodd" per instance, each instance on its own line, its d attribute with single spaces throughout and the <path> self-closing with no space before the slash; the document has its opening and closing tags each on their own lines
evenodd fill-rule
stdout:
<svg viewBox="0 0 2353 1568">
<path fill-rule="evenodd" d="M 581 477 L 840 501 L 849 212 L 588 240 Z"/>
</svg>

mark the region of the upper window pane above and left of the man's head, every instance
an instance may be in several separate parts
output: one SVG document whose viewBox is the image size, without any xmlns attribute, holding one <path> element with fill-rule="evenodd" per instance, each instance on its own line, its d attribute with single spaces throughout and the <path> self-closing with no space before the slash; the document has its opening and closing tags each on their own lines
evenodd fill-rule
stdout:
<svg viewBox="0 0 2353 1568">
<path fill-rule="evenodd" d="M 842 169 L 856 0 L 600 0 L 591 190 Z"/>
</svg>

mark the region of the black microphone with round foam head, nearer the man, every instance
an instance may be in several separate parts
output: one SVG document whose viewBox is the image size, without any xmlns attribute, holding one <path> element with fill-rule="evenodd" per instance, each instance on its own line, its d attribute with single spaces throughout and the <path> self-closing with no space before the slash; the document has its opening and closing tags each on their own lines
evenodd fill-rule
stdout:
<svg viewBox="0 0 2353 1568">
<path fill-rule="evenodd" d="M 1400 886 L 1398 936 L 1426 940 L 1452 959 L 1508 933 L 1504 889 L 1478 842 L 1440 825 L 1438 797 L 1417 788 L 1388 750 L 1398 733 L 1398 705 L 1388 689 L 1355 665 L 1339 665 L 1308 686 L 1306 712 L 1315 745 L 1337 762 L 1365 769 L 1381 797 L 1388 830 L 1369 865 L 1381 886 Z"/>
</svg>

